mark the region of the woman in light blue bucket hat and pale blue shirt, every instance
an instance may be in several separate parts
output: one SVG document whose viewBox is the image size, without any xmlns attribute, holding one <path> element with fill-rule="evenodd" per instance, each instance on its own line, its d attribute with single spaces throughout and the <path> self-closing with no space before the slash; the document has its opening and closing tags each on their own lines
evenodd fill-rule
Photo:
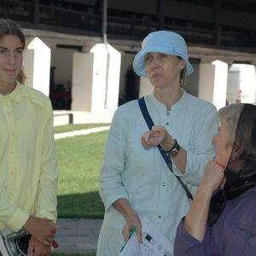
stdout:
<svg viewBox="0 0 256 256">
<path fill-rule="evenodd" d="M 105 216 L 97 256 L 119 255 L 134 224 L 138 241 L 143 241 L 143 218 L 173 243 L 177 224 L 214 155 L 217 111 L 182 88 L 193 73 L 184 39 L 175 32 L 149 33 L 133 68 L 154 89 L 114 114 L 101 170 Z M 153 127 L 144 119 L 145 106 Z"/>
</svg>

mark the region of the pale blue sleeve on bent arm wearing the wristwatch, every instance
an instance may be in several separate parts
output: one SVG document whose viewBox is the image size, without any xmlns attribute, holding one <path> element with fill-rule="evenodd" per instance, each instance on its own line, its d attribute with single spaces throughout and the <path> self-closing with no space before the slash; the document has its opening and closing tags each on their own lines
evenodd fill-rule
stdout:
<svg viewBox="0 0 256 256">
<path fill-rule="evenodd" d="M 193 145 L 190 148 L 184 148 L 187 150 L 186 172 L 180 172 L 173 164 L 174 173 L 195 186 L 201 183 L 205 166 L 214 157 L 212 137 L 218 133 L 216 108 L 210 104 L 207 104 L 206 107 L 196 119 Z"/>
</svg>

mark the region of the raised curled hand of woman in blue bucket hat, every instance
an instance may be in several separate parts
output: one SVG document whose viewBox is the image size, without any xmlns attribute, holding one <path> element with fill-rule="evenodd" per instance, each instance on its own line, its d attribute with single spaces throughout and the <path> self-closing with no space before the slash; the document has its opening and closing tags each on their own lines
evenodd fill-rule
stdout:
<svg viewBox="0 0 256 256">
<path fill-rule="evenodd" d="M 151 131 L 143 134 L 142 143 L 144 148 L 156 147 L 160 144 L 162 148 L 169 150 L 173 147 L 175 142 L 164 126 L 154 125 Z"/>
</svg>

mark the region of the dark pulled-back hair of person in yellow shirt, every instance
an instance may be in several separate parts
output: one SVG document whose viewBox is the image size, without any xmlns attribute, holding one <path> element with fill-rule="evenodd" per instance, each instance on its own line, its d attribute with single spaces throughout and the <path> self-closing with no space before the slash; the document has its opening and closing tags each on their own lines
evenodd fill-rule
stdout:
<svg viewBox="0 0 256 256">
<path fill-rule="evenodd" d="M 23 49 L 25 48 L 26 39 L 21 31 L 20 25 L 13 20 L 0 19 L 0 40 L 9 35 L 15 35 L 17 38 L 20 38 L 20 42 L 23 44 Z M 20 84 L 24 84 L 25 79 L 26 76 L 22 68 L 20 68 L 20 73 L 17 76 L 17 80 L 20 82 Z"/>
</svg>

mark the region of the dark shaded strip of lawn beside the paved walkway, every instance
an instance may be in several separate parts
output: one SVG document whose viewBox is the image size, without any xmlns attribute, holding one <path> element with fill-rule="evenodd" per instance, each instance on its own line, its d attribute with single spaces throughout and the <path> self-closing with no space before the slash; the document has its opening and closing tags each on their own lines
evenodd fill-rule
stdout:
<svg viewBox="0 0 256 256">
<path fill-rule="evenodd" d="M 104 206 L 98 191 L 59 195 L 58 196 L 59 218 L 103 218 Z"/>
</svg>

